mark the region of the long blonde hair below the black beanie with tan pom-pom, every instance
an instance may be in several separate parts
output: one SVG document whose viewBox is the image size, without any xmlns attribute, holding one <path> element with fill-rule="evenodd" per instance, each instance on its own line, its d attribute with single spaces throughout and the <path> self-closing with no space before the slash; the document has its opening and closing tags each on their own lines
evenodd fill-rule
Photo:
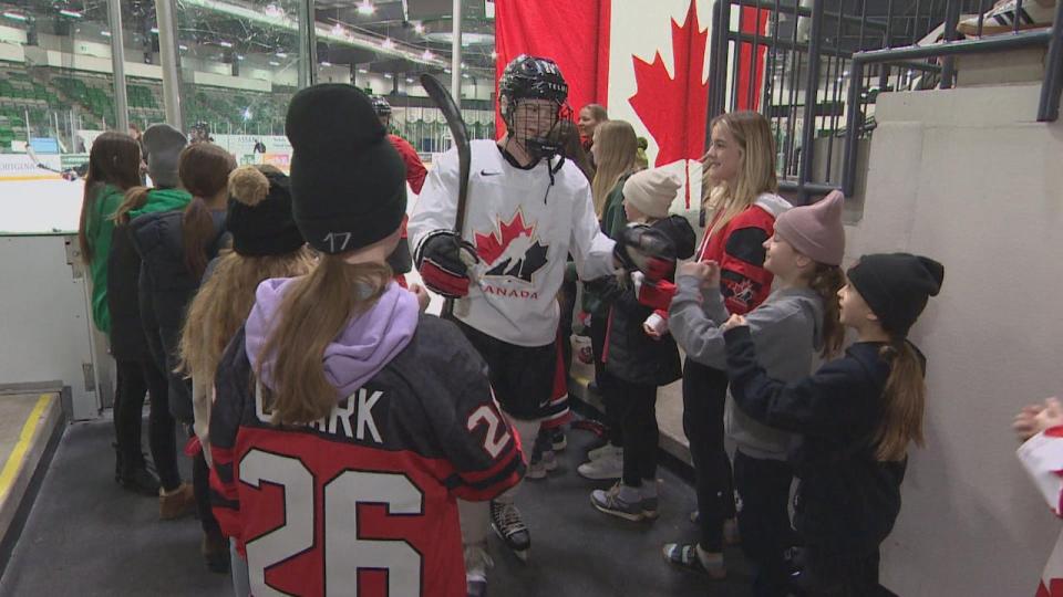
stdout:
<svg viewBox="0 0 1063 597">
<path fill-rule="evenodd" d="M 283 255 L 245 256 L 235 251 L 223 255 L 188 307 L 176 373 L 213 379 L 226 345 L 251 312 L 258 284 L 270 277 L 306 275 L 313 262 L 307 247 Z"/>
</svg>

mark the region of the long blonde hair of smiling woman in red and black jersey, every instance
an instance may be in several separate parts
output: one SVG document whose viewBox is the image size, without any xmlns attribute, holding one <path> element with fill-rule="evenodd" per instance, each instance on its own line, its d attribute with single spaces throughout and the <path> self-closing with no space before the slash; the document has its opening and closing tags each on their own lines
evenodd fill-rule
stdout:
<svg viewBox="0 0 1063 597">
<path fill-rule="evenodd" d="M 722 126 L 742 150 L 742 165 L 734 188 L 726 181 L 712 181 L 705 170 L 702 180 L 705 207 L 713 210 L 712 234 L 745 211 L 762 192 L 777 192 L 775 140 L 767 118 L 757 112 L 732 112 L 712 119 L 710 130 Z"/>
</svg>

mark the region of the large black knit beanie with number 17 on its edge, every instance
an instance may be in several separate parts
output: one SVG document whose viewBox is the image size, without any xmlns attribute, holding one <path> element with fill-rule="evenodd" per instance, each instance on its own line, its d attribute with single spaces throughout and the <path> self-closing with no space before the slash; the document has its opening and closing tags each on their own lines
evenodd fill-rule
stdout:
<svg viewBox="0 0 1063 597">
<path fill-rule="evenodd" d="M 328 83 L 288 106 L 292 213 L 314 249 L 338 254 L 379 242 L 406 213 L 406 167 L 369 97 Z"/>
</svg>

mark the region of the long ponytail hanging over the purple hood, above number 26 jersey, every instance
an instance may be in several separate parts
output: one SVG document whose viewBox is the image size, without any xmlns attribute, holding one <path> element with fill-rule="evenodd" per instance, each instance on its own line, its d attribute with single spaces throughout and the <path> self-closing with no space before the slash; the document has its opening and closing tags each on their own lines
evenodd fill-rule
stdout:
<svg viewBox="0 0 1063 597">
<path fill-rule="evenodd" d="M 272 387 L 262 391 L 268 391 L 275 425 L 305 425 L 332 411 L 337 394 L 324 376 L 324 349 L 380 298 L 391 279 L 384 263 L 351 264 L 341 255 L 322 255 L 309 275 L 291 282 L 255 370 L 261 379 L 262 364 L 270 363 Z"/>
</svg>

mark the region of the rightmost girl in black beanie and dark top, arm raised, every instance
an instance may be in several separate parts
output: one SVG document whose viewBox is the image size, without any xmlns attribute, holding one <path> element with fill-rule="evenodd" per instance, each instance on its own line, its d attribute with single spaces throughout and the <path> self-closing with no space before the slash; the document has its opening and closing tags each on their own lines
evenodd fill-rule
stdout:
<svg viewBox="0 0 1063 597">
<path fill-rule="evenodd" d="M 842 323 L 856 329 L 857 342 L 801 381 L 767 377 L 744 317 L 724 325 L 735 404 L 802 434 L 792 461 L 803 594 L 888 594 L 878 584 L 879 544 L 900 512 L 908 443 L 922 443 L 926 360 L 907 336 L 943 276 L 940 263 L 922 256 L 861 258 L 838 293 Z"/>
</svg>

